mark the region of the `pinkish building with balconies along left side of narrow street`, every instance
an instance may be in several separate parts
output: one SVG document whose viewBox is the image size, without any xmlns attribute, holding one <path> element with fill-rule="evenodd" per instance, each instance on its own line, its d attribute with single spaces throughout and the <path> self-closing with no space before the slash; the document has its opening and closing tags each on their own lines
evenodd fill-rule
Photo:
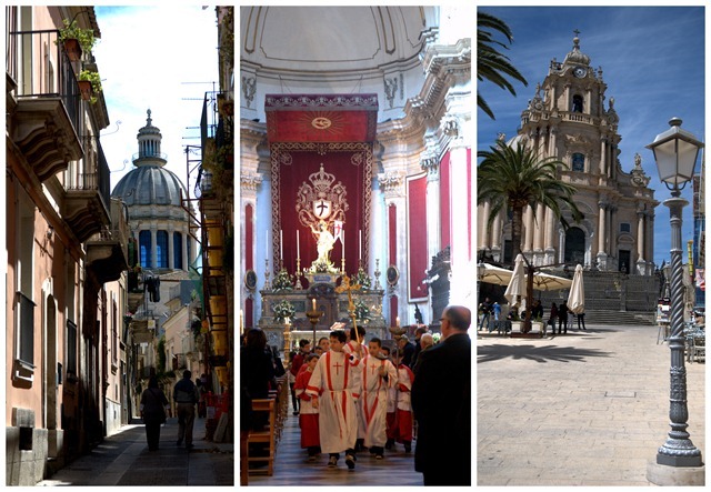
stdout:
<svg viewBox="0 0 711 492">
<path fill-rule="evenodd" d="M 90 50 L 70 58 L 62 20 L 100 37 L 92 8 L 6 8 L 9 485 L 33 485 L 120 420 L 128 223 L 109 194 L 103 96 L 79 89 L 98 67 Z"/>
</svg>

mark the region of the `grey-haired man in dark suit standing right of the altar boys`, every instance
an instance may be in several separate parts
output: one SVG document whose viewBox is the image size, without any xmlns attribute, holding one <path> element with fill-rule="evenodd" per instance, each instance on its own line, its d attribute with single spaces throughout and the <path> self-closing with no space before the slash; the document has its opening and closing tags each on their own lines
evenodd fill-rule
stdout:
<svg viewBox="0 0 711 492">
<path fill-rule="evenodd" d="M 420 352 L 412 383 L 414 470 L 424 485 L 471 485 L 471 311 L 448 305 L 442 341 Z"/>
</svg>

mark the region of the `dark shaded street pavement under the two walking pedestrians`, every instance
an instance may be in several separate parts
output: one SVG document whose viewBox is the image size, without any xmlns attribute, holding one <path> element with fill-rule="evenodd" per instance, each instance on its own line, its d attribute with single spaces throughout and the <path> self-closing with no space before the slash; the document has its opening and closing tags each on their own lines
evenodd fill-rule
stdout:
<svg viewBox="0 0 711 492">
<path fill-rule="evenodd" d="M 38 485 L 233 485 L 234 444 L 203 441 L 204 419 L 196 419 L 194 448 L 178 448 L 178 419 L 161 428 L 158 451 L 148 451 L 146 428 L 126 425 Z"/>
</svg>

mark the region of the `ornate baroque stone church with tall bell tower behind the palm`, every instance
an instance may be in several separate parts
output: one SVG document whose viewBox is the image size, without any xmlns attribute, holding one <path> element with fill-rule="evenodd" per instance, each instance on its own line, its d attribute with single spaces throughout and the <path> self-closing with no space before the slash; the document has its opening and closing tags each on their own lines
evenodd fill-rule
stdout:
<svg viewBox="0 0 711 492">
<path fill-rule="evenodd" d="M 605 102 L 602 68 L 591 66 L 580 49 L 580 39 L 562 62 L 550 63 L 543 83 L 521 112 L 521 128 L 509 144 L 521 142 L 541 159 L 555 157 L 567 164 L 560 179 L 573 184 L 575 203 L 583 213 L 563 230 L 542 205 L 524 212 L 521 251 L 535 265 L 582 264 L 589 270 L 652 275 L 654 192 L 641 167 L 618 159 L 619 117 L 614 98 Z M 505 138 L 505 135 L 500 135 Z M 631 169 L 630 169 L 631 168 Z M 624 171 L 624 169 L 630 169 Z M 480 258 L 511 263 L 511 224 L 502 213 L 487 228 L 489 204 L 478 207 Z"/>
</svg>

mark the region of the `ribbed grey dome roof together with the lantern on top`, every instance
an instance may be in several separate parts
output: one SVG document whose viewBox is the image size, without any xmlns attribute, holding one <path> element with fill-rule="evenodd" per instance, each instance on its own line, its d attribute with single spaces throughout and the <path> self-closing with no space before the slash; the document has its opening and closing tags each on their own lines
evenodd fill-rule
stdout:
<svg viewBox="0 0 711 492">
<path fill-rule="evenodd" d="M 126 174 L 113 188 L 111 197 L 120 198 L 127 205 L 177 205 L 180 192 L 187 197 L 180 179 L 163 165 L 168 162 L 161 153 L 160 129 L 153 127 L 151 110 L 147 111 L 146 127 L 138 132 L 139 151 L 133 155 L 136 169 Z"/>
</svg>

